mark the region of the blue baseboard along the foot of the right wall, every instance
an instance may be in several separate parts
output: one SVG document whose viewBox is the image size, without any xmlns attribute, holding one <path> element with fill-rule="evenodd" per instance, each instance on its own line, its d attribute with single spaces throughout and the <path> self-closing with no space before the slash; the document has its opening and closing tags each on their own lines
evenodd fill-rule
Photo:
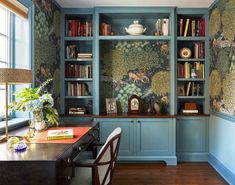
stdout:
<svg viewBox="0 0 235 185">
<path fill-rule="evenodd" d="M 226 168 L 218 159 L 209 154 L 208 162 L 230 185 L 235 185 L 235 174 Z"/>
</svg>

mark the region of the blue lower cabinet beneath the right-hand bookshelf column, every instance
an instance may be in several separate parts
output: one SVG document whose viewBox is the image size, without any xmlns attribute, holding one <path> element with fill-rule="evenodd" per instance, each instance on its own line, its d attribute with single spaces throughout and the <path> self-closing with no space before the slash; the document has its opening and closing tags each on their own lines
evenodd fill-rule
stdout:
<svg viewBox="0 0 235 185">
<path fill-rule="evenodd" d="M 177 157 L 179 161 L 207 161 L 208 117 L 177 119 Z"/>
</svg>

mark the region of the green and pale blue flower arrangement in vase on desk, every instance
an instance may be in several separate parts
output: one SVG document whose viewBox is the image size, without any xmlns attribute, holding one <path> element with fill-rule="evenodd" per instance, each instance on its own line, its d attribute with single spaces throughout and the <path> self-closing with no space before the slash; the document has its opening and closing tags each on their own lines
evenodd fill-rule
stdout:
<svg viewBox="0 0 235 185">
<path fill-rule="evenodd" d="M 59 115 L 53 107 L 52 94 L 44 90 L 51 81 L 52 79 L 49 79 L 38 88 L 24 88 L 21 92 L 15 93 L 16 101 L 9 105 L 12 110 L 32 112 L 30 127 L 37 131 L 46 129 L 47 124 L 59 125 Z"/>
</svg>

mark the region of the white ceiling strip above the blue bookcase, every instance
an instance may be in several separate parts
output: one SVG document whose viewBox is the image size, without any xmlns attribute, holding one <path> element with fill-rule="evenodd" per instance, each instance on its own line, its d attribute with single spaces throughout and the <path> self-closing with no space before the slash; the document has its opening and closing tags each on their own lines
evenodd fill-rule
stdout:
<svg viewBox="0 0 235 185">
<path fill-rule="evenodd" d="M 214 0 L 56 0 L 63 8 L 95 6 L 177 6 L 209 7 Z"/>
</svg>

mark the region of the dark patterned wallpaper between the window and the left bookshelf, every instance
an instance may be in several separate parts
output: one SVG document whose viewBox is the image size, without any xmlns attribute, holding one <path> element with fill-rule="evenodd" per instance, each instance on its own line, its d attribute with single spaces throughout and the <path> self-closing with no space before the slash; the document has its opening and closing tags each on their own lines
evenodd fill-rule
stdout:
<svg viewBox="0 0 235 185">
<path fill-rule="evenodd" d="M 60 104 L 60 9 L 52 0 L 33 0 L 35 4 L 35 87 L 49 78 L 55 107 Z"/>
</svg>

